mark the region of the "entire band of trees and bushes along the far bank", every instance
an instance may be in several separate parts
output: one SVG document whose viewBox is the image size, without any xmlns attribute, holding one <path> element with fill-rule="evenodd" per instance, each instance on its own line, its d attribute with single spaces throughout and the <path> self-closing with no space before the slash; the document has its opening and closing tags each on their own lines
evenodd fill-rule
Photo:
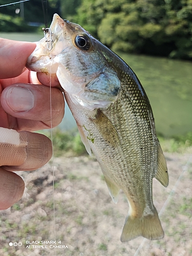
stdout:
<svg viewBox="0 0 192 256">
<path fill-rule="evenodd" d="M 80 24 L 114 51 L 192 59 L 192 0 L 49 0 L 43 3 L 45 18 L 41 1 L 24 3 L 25 23 L 44 24 L 47 20 L 49 26 L 53 14 L 58 13 Z M 2 0 L 3 4 L 7 0 Z M 18 26 L 17 8 L 19 4 L 1 8 L 2 14 L 12 16 L 9 22 L 8 17 L 0 17 L 2 31 L 28 29 L 24 20 Z"/>
</svg>

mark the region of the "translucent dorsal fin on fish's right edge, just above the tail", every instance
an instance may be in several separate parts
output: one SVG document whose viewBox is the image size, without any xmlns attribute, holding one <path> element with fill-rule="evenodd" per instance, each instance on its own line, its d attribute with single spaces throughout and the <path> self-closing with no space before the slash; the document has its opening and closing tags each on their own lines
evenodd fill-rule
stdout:
<svg viewBox="0 0 192 256">
<path fill-rule="evenodd" d="M 157 173 L 155 175 L 155 178 L 165 187 L 168 186 L 168 172 L 167 172 L 167 165 L 166 161 L 161 149 L 161 146 L 159 144 L 159 140 L 157 141 L 157 147 L 158 147 L 158 169 Z"/>
</svg>

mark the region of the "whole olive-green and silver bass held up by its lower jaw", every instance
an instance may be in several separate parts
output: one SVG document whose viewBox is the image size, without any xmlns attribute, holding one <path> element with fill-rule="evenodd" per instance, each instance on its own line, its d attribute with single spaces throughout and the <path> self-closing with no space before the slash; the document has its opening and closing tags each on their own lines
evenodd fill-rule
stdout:
<svg viewBox="0 0 192 256">
<path fill-rule="evenodd" d="M 88 153 L 100 164 L 114 203 L 129 203 L 120 240 L 161 239 L 152 182 L 168 185 L 166 161 L 147 95 L 133 70 L 81 26 L 54 14 L 27 68 L 56 73 Z"/>
</svg>

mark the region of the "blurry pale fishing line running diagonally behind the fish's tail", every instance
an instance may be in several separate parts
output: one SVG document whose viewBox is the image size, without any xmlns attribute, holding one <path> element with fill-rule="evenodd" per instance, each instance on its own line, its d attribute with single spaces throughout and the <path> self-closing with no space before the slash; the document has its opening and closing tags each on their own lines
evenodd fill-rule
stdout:
<svg viewBox="0 0 192 256">
<path fill-rule="evenodd" d="M 165 210 L 167 204 L 169 203 L 170 199 L 173 197 L 173 195 L 175 194 L 175 191 L 176 191 L 176 188 L 178 187 L 178 184 L 183 176 L 183 174 L 186 172 L 186 170 L 188 170 L 188 167 L 189 167 L 189 163 L 192 161 L 192 155 L 189 156 L 185 166 L 183 167 L 183 170 L 179 176 L 179 178 L 177 179 L 174 187 L 172 188 L 172 191 L 170 191 L 167 199 L 165 200 L 160 212 L 159 212 L 159 216 L 161 216 L 163 214 L 163 211 Z M 148 239 L 144 238 L 143 241 L 141 242 L 141 244 L 139 245 L 139 247 L 137 248 L 135 254 L 133 256 L 137 256 L 138 253 L 140 252 L 141 248 L 143 247 L 143 245 L 145 244 L 145 242 L 147 241 Z"/>
</svg>

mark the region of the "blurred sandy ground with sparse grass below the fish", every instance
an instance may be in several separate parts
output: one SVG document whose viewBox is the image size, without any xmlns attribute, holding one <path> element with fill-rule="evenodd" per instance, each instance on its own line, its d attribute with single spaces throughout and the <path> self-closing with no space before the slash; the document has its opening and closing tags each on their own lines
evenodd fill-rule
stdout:
<svg viewBox="0 0 192 256">
<path fill-rule="evenodd" d="M 192 158 L 187 153 L 165 153 L 165 157 L 169 185 L 164 188 L 153 182 L 163 239 L 139 237 L 121 243 L 129 209 L 124 194 L 120 193 L 117 204 L 112 202 L 95 159 L 61 157 L 54 159 L 54 204 L 52 162 L 35 172 L 19 173 L 26 190 L 17 204 L 0 211 L 0 255 L 192 255 Z"/>
</svg>

